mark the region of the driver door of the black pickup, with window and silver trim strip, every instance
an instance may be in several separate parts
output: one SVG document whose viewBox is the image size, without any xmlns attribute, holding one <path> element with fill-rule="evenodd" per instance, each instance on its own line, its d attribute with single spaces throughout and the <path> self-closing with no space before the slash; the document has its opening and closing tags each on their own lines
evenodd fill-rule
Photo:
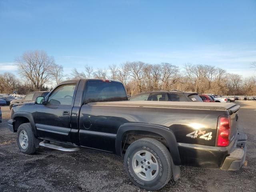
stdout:
<svg viewBox="0 0 256 192">
<path fill-rule="evenodd" d="M 76 84 L 64 84 L 54 89 L 46 98 L 46 104 L 36 104 L 35 125 L 38 137 L 72 142 L 70 138 L 70 117 L 74 104 Z"/>
</svg>

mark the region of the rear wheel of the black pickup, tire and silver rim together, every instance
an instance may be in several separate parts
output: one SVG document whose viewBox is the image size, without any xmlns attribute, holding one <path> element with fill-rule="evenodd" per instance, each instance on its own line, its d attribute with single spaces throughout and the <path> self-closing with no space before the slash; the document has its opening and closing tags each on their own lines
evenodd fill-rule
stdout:
<svg viewBox="0 0 256 192">
<path fill-rule="evenodd" d="M 146 190 L 158 190 L 172 177 L 172 158 L 168 149 L 151 138 L 136 140 L 126 150 L 124 167 L 132 182 Z"/>
</svg>

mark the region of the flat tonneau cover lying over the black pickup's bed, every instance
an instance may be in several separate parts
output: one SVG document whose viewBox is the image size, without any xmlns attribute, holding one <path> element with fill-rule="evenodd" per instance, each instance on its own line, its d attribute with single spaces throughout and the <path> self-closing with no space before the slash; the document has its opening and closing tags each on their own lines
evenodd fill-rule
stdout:
<svg viewBox="0 0 256 192">
<path fill-rule="evenodd" d="M 164 107 L 164 108 L 192 108 L 210 110 L 229 110 L 234 103 L 218 102 L 175 102 L 175 101 L 115 101 L 115 102 L 96 102 L 88 105 L 108 105 L 108 106 L 142 106 L 142 107 Z M 239 108 L 238 108 L 239 109 Z"/>
</svg>

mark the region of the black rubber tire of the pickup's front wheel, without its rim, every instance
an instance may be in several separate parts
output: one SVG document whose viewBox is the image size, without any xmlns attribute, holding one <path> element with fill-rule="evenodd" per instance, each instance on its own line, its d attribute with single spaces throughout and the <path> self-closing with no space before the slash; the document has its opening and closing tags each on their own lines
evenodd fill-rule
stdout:
<svg viewBox="0 0 256 192">
<path fill-rule="evenodd" d="M 26 144 L 27 144 L 27 147 L 24 148 L 24 146 L 22 147 L 21 144 L 20 144 L 20 134 L 21 133 L 24 133 L 26 132 Z M 21 124 L 18 128 L 18 131 L 17 131 L 17 145 L 18 145 L 18 148 L 19 150 L 24 153 L 24 154 L 33 154 L 35 151 L 36 151 L 36 147 L 35 147 L 35 136 L 32 132 L 32 128 L 31 128 L 31 125 L 30 123 L 24 123 L 24 124 Z"/>
</svg>

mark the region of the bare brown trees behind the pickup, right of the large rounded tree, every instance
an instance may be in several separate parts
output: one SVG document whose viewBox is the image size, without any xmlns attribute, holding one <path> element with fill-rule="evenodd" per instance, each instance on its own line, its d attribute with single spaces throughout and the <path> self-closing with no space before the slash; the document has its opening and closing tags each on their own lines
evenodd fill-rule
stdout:
<svg viewBox="0 0 256 192">
<path fill-rule="evenodd" d="M 70 78 L 100 78 L 120 81 L 128 94 L 134 95 L 147 90 L 178 89 L 198 93 L 221 95 L 256 95 L 256 78 L 242 78 L 222 68 L 206 64 L 184 64 L 182 68 L 170 63 L 148 64 L 125 62 L 119 66 L 94 70 L 84 66 L 84 71 L 74 68 Z"/>
</svg>

